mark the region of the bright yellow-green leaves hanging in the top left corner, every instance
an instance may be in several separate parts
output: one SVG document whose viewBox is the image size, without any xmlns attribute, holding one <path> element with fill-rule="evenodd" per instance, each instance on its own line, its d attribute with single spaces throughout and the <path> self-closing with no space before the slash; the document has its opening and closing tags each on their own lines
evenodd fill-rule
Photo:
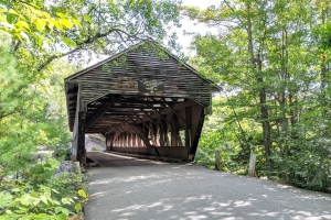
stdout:
<svg viewBox="0 0 331 220">
<path fill-rule="evenodd" d="M 32 43 L 39 48 L 45 42 L 49 45 L 56 43 L 53 33 L 63 33 L 79 26 L 81 22 L 72 14 L 54 13 L 52 9 L 43 6 L 43 1 L 0 1 L 0 31 L 10 33 L 13 40 Z M 62 41 L 73 46 L 71 38 L 65 37 Z"/>
</svg>

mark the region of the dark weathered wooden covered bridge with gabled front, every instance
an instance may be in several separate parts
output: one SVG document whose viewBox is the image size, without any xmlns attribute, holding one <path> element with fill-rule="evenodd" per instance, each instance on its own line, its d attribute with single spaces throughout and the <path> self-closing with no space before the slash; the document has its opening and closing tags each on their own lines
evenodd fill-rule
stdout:
<svg viewBox="0 0 331 220">
<path fill-rule="evenodd" d="M 65 78 L 72 160 L 85 164 L 85 133 L 107 151 L 191 161 L 220 88 L 160 44 L 143 41 Z"/>
</svg>

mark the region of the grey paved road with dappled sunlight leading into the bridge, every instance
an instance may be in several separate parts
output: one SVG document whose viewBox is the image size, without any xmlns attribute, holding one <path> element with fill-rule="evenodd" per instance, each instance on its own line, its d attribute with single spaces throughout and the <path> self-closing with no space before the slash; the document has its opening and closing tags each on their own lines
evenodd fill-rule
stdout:
<svg viewBox="0 0 331 220">
<path fill-rule="evenodd" d="M 95 153 L 92 157 L 105 161 L 108 156 Z M 192 164 L 117 156 L 109 160 L 116 165 L 108 162 L 102 163 L 104 167 L 88 169 L 92 178 L 86 220 L 331 219 L 328 194 Z"/>
</svg>

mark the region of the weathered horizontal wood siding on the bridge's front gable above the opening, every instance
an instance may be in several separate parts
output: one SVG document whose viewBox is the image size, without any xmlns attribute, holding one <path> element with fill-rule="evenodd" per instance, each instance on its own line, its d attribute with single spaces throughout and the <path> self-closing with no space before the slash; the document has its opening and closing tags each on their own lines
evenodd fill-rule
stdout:
<svg viewBox="0 0 331 220">
<path fill-rule="evenodd" d="M 146 94 L 211 105 L 211 85 L 173 57 L 161 59 L 154 53 L 139 52 L 122 56 L 71 79 L 82 84 L 82 101 L 90 102 L 107 94 Z"/>
</svg>

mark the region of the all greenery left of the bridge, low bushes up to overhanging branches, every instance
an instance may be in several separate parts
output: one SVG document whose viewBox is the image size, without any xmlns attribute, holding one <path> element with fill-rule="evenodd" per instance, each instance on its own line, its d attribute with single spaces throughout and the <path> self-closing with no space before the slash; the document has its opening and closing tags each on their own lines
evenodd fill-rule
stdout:
<svg viewBox="0 0 331 220">
<path fill-rule="evenodd" d="M 178 14 L 175 0 L 0 0 L 0 219 L 83 218 L 85 175 L 57 173 L 71 152 L 63 79 L 149 36 L 174 45 Z"/>
</svg>

